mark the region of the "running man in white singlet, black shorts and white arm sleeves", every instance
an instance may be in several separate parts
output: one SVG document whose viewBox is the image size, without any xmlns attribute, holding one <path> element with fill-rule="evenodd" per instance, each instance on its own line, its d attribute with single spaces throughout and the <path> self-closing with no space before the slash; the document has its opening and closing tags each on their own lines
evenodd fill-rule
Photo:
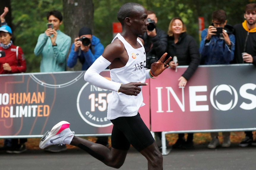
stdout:
<svg viewBox="0 0 256 170">
<path fill-rule="evenodd" d="M 120 168 L 130 145 L 148 160 L 148 169 L 163 169 L 163 157 L 150 130 L 140 118 L 138 110 L 143 103 L 141 88 L 146 78 L 155 78 L 169 67 L 171 57 L 165 61 L 165 53 L 157 62 L 146 69 L 143 40 L 138 38 L 147 31 L 147 10 L 136 3 L 127 3 L 118 11 L 122 33 L 116 35 L 102 56 L 86 71 L 84 79 L 103 89 L 112 90 L 107 118 L 113 123 L 112 148 L 74 136 L 69 123 L 61 121 L 42 137 L 41 149 L 54 144 L 70 144 L 88 152 L 107 166 Z M 111 81 L 99 73 L 109 67 Z"/>
</svg>

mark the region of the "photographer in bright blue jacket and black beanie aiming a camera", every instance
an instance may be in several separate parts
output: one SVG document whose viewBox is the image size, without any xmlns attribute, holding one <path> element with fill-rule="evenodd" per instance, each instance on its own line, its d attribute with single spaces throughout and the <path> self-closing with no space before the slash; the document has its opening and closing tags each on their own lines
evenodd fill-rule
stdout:
<svg viewBox="0 0 256 170">
<path fill-rule="evenodd" d="M 91 29 L 83 27 L 79 30 L 79 37 L 75 38 L 68 56 L 67 66 L 72 68 L 79 59 L 82 70 L 87 70 L 91 64 L 103 53 L 104 46 L 99 38 L 92 35 Z"/>
</svg>

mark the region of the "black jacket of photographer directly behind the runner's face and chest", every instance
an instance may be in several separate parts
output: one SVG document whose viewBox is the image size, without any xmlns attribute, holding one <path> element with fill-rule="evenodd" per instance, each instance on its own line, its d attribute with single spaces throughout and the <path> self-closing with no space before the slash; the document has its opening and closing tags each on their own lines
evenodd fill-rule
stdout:
<svg viewBox="0 0 256 170">
<path fill-rule="evenodd" d="M 151 64 L 158 61 L 161 56 L 166 52 L 167 48 L 167 34 L 156 28 L 157 35 L 154 37 L 149 37 L 145 33 L 141 38 L 144 40 L 144 48 L 146 51 L 146 68 L 150 69 Z"/>
</svg>

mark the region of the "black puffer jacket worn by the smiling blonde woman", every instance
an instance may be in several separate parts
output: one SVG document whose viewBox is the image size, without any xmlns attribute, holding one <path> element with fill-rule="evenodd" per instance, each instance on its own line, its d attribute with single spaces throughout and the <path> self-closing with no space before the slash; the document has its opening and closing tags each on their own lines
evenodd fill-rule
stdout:
<svg viewBox="0 0 256 170">
<path fill-rule="evenodd" d="M 179 66 L 189 66 L 182 75 L 189 80 L 200 63 L 199 49 L 195 39 L 187 33 L 181 33 L 176 44 L 173 36 L 168 36 L 167 42 L 167 56 L 177 56 Z"/>
</svg>

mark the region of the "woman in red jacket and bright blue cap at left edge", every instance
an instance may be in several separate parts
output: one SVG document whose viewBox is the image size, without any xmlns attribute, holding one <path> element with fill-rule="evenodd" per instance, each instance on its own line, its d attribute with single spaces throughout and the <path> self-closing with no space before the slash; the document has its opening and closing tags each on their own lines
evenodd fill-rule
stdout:
<svg viewBox="0 0 256 170">
<path fill-rule="evenodd" d="M 0 27 L 0 74 L 21 73 L 26 71 L 26 61 L 20 47 L 11 41 L 12 30 L 8 25 Z M 5 53 L 5 56 L 4 54 Z"/>
</svg>

